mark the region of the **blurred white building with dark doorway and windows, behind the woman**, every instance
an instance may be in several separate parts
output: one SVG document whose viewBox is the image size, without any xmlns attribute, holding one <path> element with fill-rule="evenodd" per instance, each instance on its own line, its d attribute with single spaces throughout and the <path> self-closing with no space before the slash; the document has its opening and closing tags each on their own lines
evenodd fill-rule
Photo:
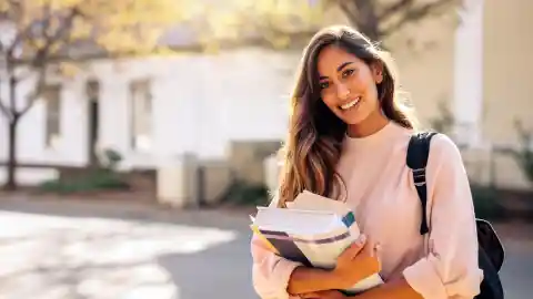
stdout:
<svg viewBox="0 0 533 299">
<path fill-rule="evenodd" d="M 37 101 L 18 126 L 22 167 L 17 179 L 37 184 L 57 176 L 53 168 L 23 167 L 28 164 L 88 165 L 94 146 L 120 152 L 124 168 L 154 168 L 185 153 L 224 158 L 231 141 L 279 141 L 299 58 L 245 48 L 100 60 L 71 79 L 50 76 L 47 100 Z M 21 103 L 30 87 L 29 81 L 20 85 Z M 7 101 L 6 86 L 1 92 Z M 0 161 L 6 162 L 4 120 L 0 145 Z M 2 167 L 0 183 L 4 179 Z"/>
</svg>

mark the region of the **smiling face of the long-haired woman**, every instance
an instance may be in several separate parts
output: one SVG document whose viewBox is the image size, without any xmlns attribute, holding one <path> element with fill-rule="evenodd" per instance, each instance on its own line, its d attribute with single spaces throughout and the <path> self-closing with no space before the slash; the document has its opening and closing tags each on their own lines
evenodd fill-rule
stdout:
<svg viewBox="0 0 533 299">
<path fill-rule="evenodd" d="M 376 83 L 381 83 L 383 76 L 381 68 L 376 66 L 369 66 L 334 45 L 324 48 L 319 54 L 322 101 L 344 123 L 360 124 L 380 110 Z"/>
</svg>

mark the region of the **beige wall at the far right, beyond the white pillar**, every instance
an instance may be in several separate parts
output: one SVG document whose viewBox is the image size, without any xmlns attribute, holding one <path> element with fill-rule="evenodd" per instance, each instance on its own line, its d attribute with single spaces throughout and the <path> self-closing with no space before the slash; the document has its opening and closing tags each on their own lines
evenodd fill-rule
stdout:
<svg viewBox="0 0 533 299">
<path fill-rule="evenodd" d="M 484 2 L 483 136 L 493 146 L 516 150 L 515 120 L 533 134 L 533 35 L 527 33 L 533 2 Z M 497 185 L 531 188 L 514 158 L 495 155 Z"/>
</svg>

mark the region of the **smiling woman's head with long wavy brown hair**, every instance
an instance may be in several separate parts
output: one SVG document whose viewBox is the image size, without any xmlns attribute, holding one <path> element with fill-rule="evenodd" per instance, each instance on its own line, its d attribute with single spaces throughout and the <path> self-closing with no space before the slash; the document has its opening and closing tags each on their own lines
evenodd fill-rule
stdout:
<svg viewBox="0 0 533 299">
<path fill-rule="evenodd" d="M 292 97 L 292 132 L 283 148 L 291 158 L 285 161 L 281 205 L 304 185 L 324 196 L 339 188 L 335 165 L 346 134 L 369 136 L 389 121 L 414 127 L 386 58 L 363 34 L 345 27 L 326 28 L 310 41 Z"/>
</svg>

